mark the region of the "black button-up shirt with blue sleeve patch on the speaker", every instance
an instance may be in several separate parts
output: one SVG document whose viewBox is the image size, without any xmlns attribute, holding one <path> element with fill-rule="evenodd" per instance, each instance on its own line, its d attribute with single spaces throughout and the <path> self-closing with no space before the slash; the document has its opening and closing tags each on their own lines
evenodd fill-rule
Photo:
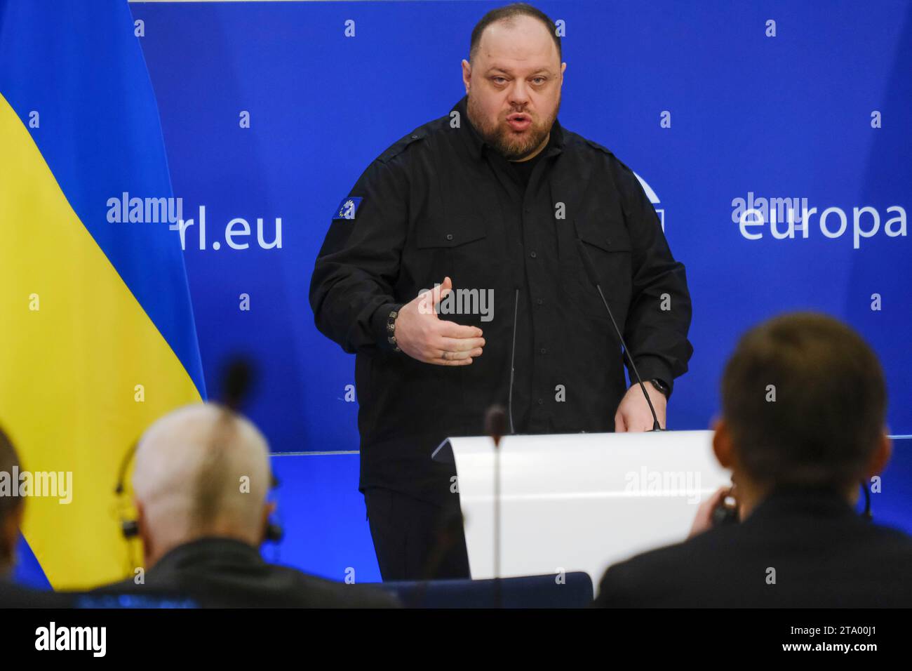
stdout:
<svg viewBox="0 0 912 671">
<path fill-rule="evenodd" d="M 643 380 L 670 387 L 693 351 L 684 267 L 634 173 L 559 121 L 517 170 L 465 109 L 462 98 L 368 166 L 350 192 L 362 198 L 354 218 L 333 220 L 316 259 L 316 326 L 357 354 L 362 489 L 449 495 L 451 473 L 430 454 L 508 406 L 512 357 L 516 433 L 614 430 L 625 363 L 577 237 Z M 484 332 L 467 366 L 418 362 L 387 340 L 389 311 L 446 276 L 461 311 L 440 319 Z"/>
</svg>

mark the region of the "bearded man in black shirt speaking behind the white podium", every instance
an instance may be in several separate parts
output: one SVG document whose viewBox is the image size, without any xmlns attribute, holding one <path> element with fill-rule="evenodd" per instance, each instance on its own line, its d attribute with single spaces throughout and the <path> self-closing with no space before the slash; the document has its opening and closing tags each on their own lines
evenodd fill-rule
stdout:
<svg viewBox="0 0 912 671">
<path fill-rule="evenodd" d="M 692 353 L 684 267 L 637 177 L 557 121 L 553 22 L 493 10 L 470 58 L 466 96 L 343 200 L 311 281 L 317 328 L 357 354 L 360 489 L 384 580 L 468 574 L 458 519 L 437 527 L 458 518 L 457 483 L 430 455 L 482 434 L 492 404 L 517 434 L 652 427 L 581 246 L 661 425 Z"/>
</svg>

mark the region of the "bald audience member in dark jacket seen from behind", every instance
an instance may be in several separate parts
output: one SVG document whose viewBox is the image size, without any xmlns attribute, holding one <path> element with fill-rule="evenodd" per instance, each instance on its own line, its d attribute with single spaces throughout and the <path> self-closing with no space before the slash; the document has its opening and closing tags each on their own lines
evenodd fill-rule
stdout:
<svg viewBox="0 0 912 671">
<path fill-rule="evenodd" d="M 240 414 L 190 405 L 142 436 L 133 496 L 144 576 L 98 590 L 189 596 L 216 607 L 389 607 L 384 592 L 266 563 L 274 504 L 264 435 Z"/>
</svg>

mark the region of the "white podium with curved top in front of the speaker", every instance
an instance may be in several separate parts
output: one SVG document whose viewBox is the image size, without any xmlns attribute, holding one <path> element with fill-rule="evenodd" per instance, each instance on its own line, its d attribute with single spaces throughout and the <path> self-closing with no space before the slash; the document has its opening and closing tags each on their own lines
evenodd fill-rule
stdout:
<svg viewBox="0 0 912 671">
<path fill-rule="evenodd" d="M 702 500 L 729 483 L 711 431 L 505 435 L 501 440 L 501 576 L 586 571 L 684 540 Z M 494 446 L 449 438 L 472 578 L 494 571 Z"/>
</svg>

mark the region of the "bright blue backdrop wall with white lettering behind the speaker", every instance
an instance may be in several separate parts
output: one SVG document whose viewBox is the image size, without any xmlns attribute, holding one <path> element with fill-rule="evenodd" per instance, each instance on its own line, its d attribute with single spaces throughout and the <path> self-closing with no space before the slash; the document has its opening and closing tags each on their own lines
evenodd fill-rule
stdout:
<svg viewBox="0 0 912 671">
<path fill-rule="evenodd" d="M 185 256 L 206 384 L 218 397 L 225 357 L 254 356 L 261 379 L 249 410 L 276 452 L 358 449 L 358 407 L 346 401 L 354 359 L 316 331 L 307 303 L 314 259 L 368 163 L 461 98 L 472 26 L 502 4 L 130 5 L 144 22 L 174 194 L 194 219 Z M 912 5 L 537 6 L 565 26 L 561 122 L 648 183 L 687 267 L 694 355 L 676 383 L 669 427 L 710 424 L 722 364 L 743 330 L 784 310 L 818 309 L 876 348 L 892 432 L 912 434 Z M 346 37 L 349 21 L 354 37 Z M 806 198 L 817 211 L 806 237 L 799 230 L 777 239 L 769 215 L 763 225 L 740 225 L 739 198 Z M 855 225 L 854 208 L 863 207 L 873 210 Z M 827 208 L 836 209 L 822 224 Z M 856 243 L 856 228 L 872 230 L 875 214 L 877 232 Z M 251 235 L 232 240 L 248 248 L 228 244 L 225 228 L 236 217 Z M 281 219 L 281 246 L 263 248 L 257 218 L 264 245 Z M 875 294 L 880 309 L 872 309 Z M 282 494 L 286 526 L 307 535 L 286 541 L 283 561 L 337 578 L 348 567 L 363 568 L 362 580 L 376 576 L 357 456 L 296 470 L 280 458 L 280 475 L 308 474 L 304 484 L 285 478 L 295 488 Z M 905 505 L 912 465 L 900 460 L 888 473 Z M 893 518 L 910 527 L 900 498 Z"/>
</svg>

